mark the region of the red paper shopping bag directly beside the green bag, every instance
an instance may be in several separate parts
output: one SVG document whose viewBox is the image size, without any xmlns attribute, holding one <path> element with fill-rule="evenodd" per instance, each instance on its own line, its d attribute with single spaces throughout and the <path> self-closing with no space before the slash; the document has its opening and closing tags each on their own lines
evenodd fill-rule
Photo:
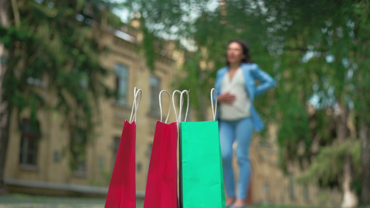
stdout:
<svg viewBox="0 0 370 208">
<path fill-rule="evenodd" d="M 162 92 L 166 92 L 169 97 L 169 109 L 165 123 L 162 123 Z M 155 126 L 144 208 L 178 208 L 177 123 L 167 124 L 171 111 L 171 97 L 166 90 L 159 93 L 159 108 L 161 121 L 157 121 Z"/>
</svg>

